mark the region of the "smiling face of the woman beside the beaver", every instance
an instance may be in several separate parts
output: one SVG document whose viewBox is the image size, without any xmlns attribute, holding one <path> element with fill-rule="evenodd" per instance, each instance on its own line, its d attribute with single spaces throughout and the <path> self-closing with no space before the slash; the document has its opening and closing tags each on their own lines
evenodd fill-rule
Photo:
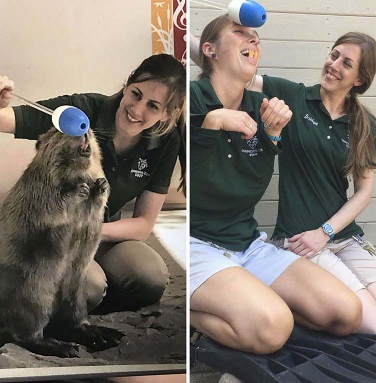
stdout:
<svg viewBox="0 0 376 383">
<path fill-rule="evenodd" d="M 132 136 L 168 118 L 168 88 L 157 80 L 136 82 L 125 87 L 116 112 L 116 130 Z"/>
</svg>

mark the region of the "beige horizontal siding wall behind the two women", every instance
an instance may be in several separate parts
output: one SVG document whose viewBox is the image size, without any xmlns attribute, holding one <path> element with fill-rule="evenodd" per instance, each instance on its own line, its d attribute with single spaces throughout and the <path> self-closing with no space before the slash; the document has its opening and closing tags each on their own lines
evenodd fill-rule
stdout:
<svg viewBox="0 0 376 383">
<path fill-rule="evenodd" d="M 229 4 L 227 0 L 220 0 Z M 349 31 L 364 32 L 376 38 L 376 2 L 358 0 L 264 0 L 267 22 L 259 28 L 262 57 L 259 74 L 284 77 L 306 85 L 319 81 L 320 71 L 332 43 Z M 191 4 L 191 32 L 200 36 L 203 28 L 223 11 Z M 191 62 L 192 64 L 192 62 Z M 196 79 L 199 68 L 191 66 L 191 79 Z M 376 81 L 361 97 L 361 101 L 376 114 Z M 353 194 L 353 186 L 348 190 Z M 278 163 L 262 201 L 256 206 L 255 217 L 260 228 L 269 234 L 277 216 Z M 376 243 L 376 185 L 372 200 L 357 219 L 367 237 Z"/>
</svg>

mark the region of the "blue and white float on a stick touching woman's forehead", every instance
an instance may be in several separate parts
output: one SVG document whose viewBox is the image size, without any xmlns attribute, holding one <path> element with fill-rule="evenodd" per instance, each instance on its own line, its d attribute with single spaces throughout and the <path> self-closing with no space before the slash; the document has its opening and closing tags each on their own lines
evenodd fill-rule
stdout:
<svg viewBox="0 0 376 383">
<path fill-rule="evenodd" d="M 234 23 L 244 27 L 257 28 L 266 22 L 265 8 L 252 0 L 233 0 L 227 8 L 223 4 L 209 0 L 191 0 L 191 2 L 227 11 Z"/>
</svg>

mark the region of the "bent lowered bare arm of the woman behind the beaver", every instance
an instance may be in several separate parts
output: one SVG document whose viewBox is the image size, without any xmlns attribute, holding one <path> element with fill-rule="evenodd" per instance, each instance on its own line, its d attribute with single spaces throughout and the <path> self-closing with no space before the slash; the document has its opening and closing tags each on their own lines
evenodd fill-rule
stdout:
<svg viewBox="0 0 376 383">
<path fill-rule="evenodd" d="M 165 194 L 144 190 L 136 199 L 133 217 L 104 223 L 101 240 L 107 242 L 121 242 L 129 239 L 146 240 L 153 229 L 165 198 Z"/>
</svg>

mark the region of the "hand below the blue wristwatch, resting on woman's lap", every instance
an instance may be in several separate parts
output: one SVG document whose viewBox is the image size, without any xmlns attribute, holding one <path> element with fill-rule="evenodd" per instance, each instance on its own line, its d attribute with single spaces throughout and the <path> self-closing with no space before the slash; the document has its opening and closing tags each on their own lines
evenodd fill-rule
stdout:
<svg viewBox="0 0 376 383">
<path fill-rule="evenodd" d="M 303 231 L 289 238 L 289 242 L 293 242 L 287 250 L 294 252 L 302 258 L 309 259 L 317 251 L 320 251 L 330 239 L 321 227 L 316 230 Z"/>
</svg>

